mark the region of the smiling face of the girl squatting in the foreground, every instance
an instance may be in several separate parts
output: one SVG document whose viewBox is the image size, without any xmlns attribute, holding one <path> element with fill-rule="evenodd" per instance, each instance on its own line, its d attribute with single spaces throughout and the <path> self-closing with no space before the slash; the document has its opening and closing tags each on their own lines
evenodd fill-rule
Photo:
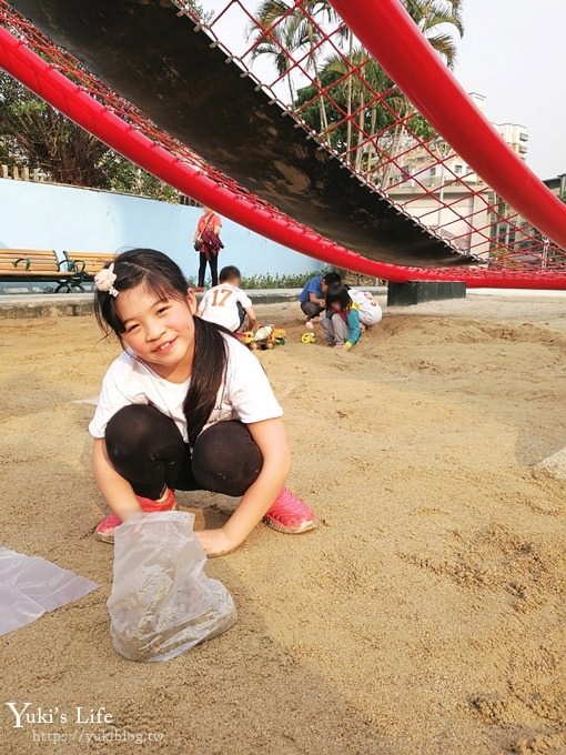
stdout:
<svg viewBox="0 0 566 755">
<path fill-rule="evenodd" d="M 124 325 L 122 341 L 162 378 L 183 382 L 194 354 L 194 293 L 160 299 L 144 284 L 120 292 L 117 310 Z"/>
</svg>

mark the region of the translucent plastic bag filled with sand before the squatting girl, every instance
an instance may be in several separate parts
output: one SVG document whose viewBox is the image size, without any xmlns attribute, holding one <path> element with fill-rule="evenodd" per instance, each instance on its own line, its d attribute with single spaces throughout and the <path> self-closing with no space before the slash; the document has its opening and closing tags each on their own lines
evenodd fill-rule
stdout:
<svg viewBox="0 0 566 755">
<path fill-rule="evenodd" d="M 194 514 L 132 516 L 115 530 L 108 598 L 114 650 L 130 661 L 169 661 L 236 620 L 232 596 L 203 571 Z"/>
</svg>

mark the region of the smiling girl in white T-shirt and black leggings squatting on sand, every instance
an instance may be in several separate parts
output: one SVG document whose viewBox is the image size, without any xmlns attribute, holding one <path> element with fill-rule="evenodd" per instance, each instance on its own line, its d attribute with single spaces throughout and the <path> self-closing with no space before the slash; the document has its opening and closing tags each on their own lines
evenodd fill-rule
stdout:
<svg viewBox="0 0 566 755">
<path fill-rule="evenodd" d="M 124 349 L 110 365 L 89 430 L 94 480 L 112 514 L 97 536 L 133 514 L 170 511 L 174 490 L 242 496 L 224 526 L 198 534 L 209 555 L 237 547 L 263 519 L 295 534 L 312 510 L 284 487 L 283 411 L 250 351 L 194 318 L 196 302 L 165 254 L 135 249 L 94 279 L 95 314 Z"/>
</svg>

